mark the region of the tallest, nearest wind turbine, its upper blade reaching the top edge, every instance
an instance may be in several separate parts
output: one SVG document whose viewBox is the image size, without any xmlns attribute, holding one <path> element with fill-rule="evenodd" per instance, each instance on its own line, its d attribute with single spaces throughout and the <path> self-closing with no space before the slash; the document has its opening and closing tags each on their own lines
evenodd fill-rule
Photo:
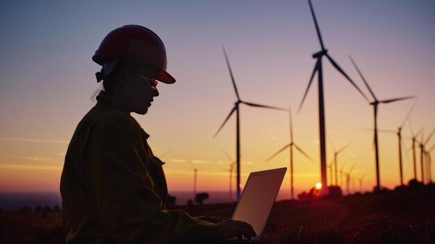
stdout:
<svg viewBox="0 0 435 244">
<path fill-rule="evenodd" d="M 329 56 L 329 54 L 327 53 L 328 50 L 325 49 L 325 46 L 323 45 L 323 41 L 322 41 L 322 36 L 320 35 L 320 29 L 317 23 L 317 19 L 315 19 L 315 15 L 314 15 L 314 10 L 313 10 L 313 6 L 311 5 L 311 0 L 308 1 L 309 6 L 310 6 L 310 10 L 311 10 L 311 15 L 313 16 L 313 21 L 315 24 L 315 30 L 317 32 L 318 35 L 318 39 L 320 42 L 320 47 L 322 48 L 322 50 L 318 51 L 317 53 L 313 54 L 313 58 L 317 59 L 317 61 L 315 62 L 314 65 L 314 70 L 313 73 L 311 74 L 311 78 L 310 81 L 308 83 L 308 87 L 305 90 L 304 93 L 304 97 L 302 98 L 301 104 L 299 105 L 299 110 L 301 110 L 302 108 L 302 104 L 304 104 L 304 100 L 306 97 L 306 93 L 308 92 L 311 83 L 313 81 L 315 72 L 318 73 L 318 95 L 319 95 L 319 133 L 320 133 L 320 173 L 322 176 L 322 186 L 327 186 L 327 156 L 326 156 L 326 140 L 325 140 L 325 135 L 326 135 L 326 130 L 325 130 L 325 103 L 324 103 L 324 97 L 323 97 L 323 71 L 322 71 L 322 57 L 326 56 L 327 59 L 329 60 L 329 62 L 331 62 L 331 64 L 336 68 L 336 70 L 338 70 L 338 72 L 340 72 L 340 74 L 343 74 L 343 76 L 345 76 L 345 78 L 347 79 L 347 81 L 349 81 L 352 86 L 354 86 L 356 88 L 356 90 L 359 91 L 359 93 L 361 93 L 361 95 L 363 95 L 363 97 L 368 101 L 368 98 L 366 97 L 366 95 L 364 95 L 364 93 L 358 88 L 358 86 L 356 86 L 356 84 L 354 83 L 354 81 L 352 81 L 352 79 L 350 79 L 349 76 L 347 76 L 347 74 L 341 69 L 340 66 L 338 66 L 338 64 L 336 63 L 336 61 L 334 61 L 334 59 L 332 59 L 331 56 Z M 322 191 L 321 191 L 322 195 L 327 195 L 328 194 L 328 189 L 327 187 L 322 187 Z"/>
</svg>

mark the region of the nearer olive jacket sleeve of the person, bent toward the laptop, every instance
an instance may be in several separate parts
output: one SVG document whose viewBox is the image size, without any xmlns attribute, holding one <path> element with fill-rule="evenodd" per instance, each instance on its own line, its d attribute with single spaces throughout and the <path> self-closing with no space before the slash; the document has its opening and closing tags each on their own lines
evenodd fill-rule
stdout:
<svg viewBox="0 0 435 244">
<path fill-rule="evenodd" d="M 189 243 L 217 238 L 217 226 L 184 211 L 162 210 L 149 182 L 145 149 L 131 124 L 102 129 L 91 153 L 89 190 L 108 236 L 116 243 Z"/>
</svg>

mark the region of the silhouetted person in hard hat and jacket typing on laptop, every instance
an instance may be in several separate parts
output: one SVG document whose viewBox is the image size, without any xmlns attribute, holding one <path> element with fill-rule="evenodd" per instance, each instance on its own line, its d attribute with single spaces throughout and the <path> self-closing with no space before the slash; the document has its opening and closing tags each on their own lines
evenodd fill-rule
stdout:
<svg viewBox="0 0 435 244">
<path fill-rule="evenodd" d="M 167 185 L 149 135 L 130 113 L 145 115 L 166 72 L 160 38 L 142 26 L 106 35 L 92 59 L 104 81 L 97 104 L 74 132 L 60 179 L 67 243 L 188 243 L 254 236 L 246 222 L 192 218 L 165 209 Z M 204 220 L 212 221 L 207 222 Z"/>
</svg>

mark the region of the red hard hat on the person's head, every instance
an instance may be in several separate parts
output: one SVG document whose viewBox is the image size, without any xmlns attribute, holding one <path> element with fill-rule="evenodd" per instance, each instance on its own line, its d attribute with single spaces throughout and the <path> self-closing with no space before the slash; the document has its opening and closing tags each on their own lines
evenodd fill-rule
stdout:
<svg viewBox="0 0 435 244">
<path fill-rule="evenodd" d="M 157 81 L 171 84 L 174 77 L 166 72 L 166 49 L 162 40 L 150 29 L 137 25 L 126 25 L 110 31 L 95 51 L 92 60 L 103 65 L 106 58 L 134 56 L 157 67 Z"/>
</svg>

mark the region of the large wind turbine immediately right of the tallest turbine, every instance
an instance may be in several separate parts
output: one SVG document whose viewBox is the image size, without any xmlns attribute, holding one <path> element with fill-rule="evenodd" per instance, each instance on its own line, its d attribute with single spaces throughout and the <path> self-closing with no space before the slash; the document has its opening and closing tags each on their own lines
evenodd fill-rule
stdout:
<svg viewBox="0 0 435 244">
<path fill-rule="evenodd" d="M 376 163 L 376 190 L 381 190 L 381 182 L 379 179 L 379 146 L 378 146 L 378 141 L 377 141 L 377 106 L 379 104 L 389 104 L 391 102 L 394 101 L 401 101 L 401 100 L 405 100 L 405 99 L 411 99 L 414 96 L 409 96 L 409 97 L 400 97 L 400 98 L 394 98 L 394 99 L 388 99 L 388 100 L 381 100 L 379 101 L 377 99 L 377 97 L 375 96 L 375 93 L 373 93 L 372 89 L 370 89 L 370 86 L 368 86 L 368 83 L 366 81 L 366 79 L 364 78 L 363 74 L 361 73 L 361 71 L 359 71 L 359 68 L 356 66 L 356 63 L 354 62 L 354 60 L 352 59 L 351 56 L 349 56 L 350 61 L 352 62 L 352 64 L 354 65 L 356 71 L 358 72 L 359 76 L 361 76 L 361 79 L 363 79 L 364 84 L 366 84 L 366 87 L 368 89 L 368 91 L 370 92 L 370 94 L 372 95 L 373 99 L 375 99 L 375 101 L 369 101 L 370 105 L 373 106 L 373 112 L 374 112 L 374 120 L 375 120 L 375 163 Z"/>
</svg>

